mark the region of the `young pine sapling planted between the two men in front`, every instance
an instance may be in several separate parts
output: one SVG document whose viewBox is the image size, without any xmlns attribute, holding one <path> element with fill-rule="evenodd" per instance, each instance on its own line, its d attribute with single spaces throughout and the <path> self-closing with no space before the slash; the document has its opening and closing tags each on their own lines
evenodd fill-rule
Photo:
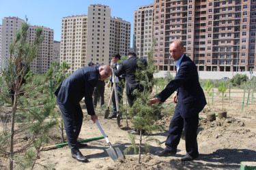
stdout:
<svg viewBox="0 0 256 170">
<path fill-rule="evenodd" d="M 149 99 L 152 99 L 152 87 L 156 80 L 153 78 L 153 73 L 155 71 L 155 66 L 152 62 L 153 58 L 153 49 L 148 53 L 147 65 L 144 65 L 139 61 L 139 69 L 135 72 L 137 80 L 140 80 L 140 84 L 143 86 L 143 92 L 139 90 L 134 90 L 133 94 L 136 95 L 136 100 L 130 108 L 129 114 L 132 117 L 132 123 L 134 128 L 139 131 L 139 160 L 141 163 L 141 147 L 142 147 L 142 133 L 145 131 L 148 135 L 152 134 L 153 131 L 162 131 L 163 126 L 156 124 L 155 122 L 160 118 L 160 112 L 162 110 L 161 105 L 154 105 L 153 107 L 147 105 Z M 135 114 L 135 116 L 134 116 Z M 131 148 L 134 148 L 134 152 L 137 152 L 137 146 L 135 144 L 134 135 L 129 134 L 129 139 L 132 143 L 132 147 L 127 148 L 128 152 Z M 148 147 L 149 141 L 158 141 L 158 139 L 152 139 L 148 137 L 145 146 Z"/>
</svg>

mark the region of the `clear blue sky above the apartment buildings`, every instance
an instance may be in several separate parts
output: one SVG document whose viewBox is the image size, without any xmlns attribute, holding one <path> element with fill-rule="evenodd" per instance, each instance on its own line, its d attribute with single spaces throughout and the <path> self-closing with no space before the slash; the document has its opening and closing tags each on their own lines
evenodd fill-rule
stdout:
<svg viewBox="0 0 256 170">
<path fill-rule="evenodd" d="M 4 17 L 16 16 L 25 20 L 27 16 L 29 24 L 53 29 L 54 39 L 60 41 L 61 18 L 71 15 L 87 15 L 88 6 L 98 3 L 108 5 L 111 8 L 111 16 L 130 22 L 133 29 L 134 10 L 137 10 L 139 6 L 154 3 L 154 0 L 0 0 L 0 24 Z"/>
</svg>

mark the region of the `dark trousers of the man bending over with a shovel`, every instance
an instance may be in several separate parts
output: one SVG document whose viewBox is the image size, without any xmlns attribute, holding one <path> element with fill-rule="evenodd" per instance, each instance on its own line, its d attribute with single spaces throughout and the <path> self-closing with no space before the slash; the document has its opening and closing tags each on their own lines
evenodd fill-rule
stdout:
<svg viewBox="0 0 256 170">
<path fill-rule="evenodd" d="M 70 107 L 69 105 L 62 105 L 59 102 L 57 103 L 59 105 L 59 109 L 61 109 L 66 135 L 68 138 L 68 146 L 71 150 L 79 150 L 76 143 L 83 124 L 83 112 L 81 105 L 78 104 L 76 107 Z"/>
</svg>

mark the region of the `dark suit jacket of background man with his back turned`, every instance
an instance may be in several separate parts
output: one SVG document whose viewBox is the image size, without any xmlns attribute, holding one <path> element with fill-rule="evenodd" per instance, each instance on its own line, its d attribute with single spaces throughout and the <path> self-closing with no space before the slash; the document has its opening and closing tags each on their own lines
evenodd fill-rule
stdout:
<svg viewBox="0 0 256 170">
<path fill-rule="evenodd" d="M 141 61 L 141 63 L 147 65 L 147 60 L 138 58 L 137 56 L 130 56 L 130 58 L 126 59 L 121 65 L 119 65 L 118 69 L 117 67 L 113 68 L 113 71 L 117 77 L 123 73 L 126 74 L 126 95 L 131 94 L 134 89 L 143 88 L 140 85 L 140 81 L 137 80 L 136 75 L 134 74 L 135 71 L 139 69 L 139 66 L 137 65 L 138 61 Z"/>
</svg>

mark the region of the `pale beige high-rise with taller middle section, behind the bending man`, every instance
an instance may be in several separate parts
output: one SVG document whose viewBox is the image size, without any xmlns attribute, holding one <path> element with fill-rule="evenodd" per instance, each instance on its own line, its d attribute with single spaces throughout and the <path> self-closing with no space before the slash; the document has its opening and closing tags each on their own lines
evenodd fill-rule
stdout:
<svg viewBox="0 0 256 170">
<path fill-rule="evenodd" d="M 109 65 L 114 53 L 127 55 L 129 48 L 130 22 L 111 17 L 109 6 L 90 5 L 88 15 L 62 18 L 60 62 L 70 65 L 70 73 L 90 61 Z"/>
</svg>

